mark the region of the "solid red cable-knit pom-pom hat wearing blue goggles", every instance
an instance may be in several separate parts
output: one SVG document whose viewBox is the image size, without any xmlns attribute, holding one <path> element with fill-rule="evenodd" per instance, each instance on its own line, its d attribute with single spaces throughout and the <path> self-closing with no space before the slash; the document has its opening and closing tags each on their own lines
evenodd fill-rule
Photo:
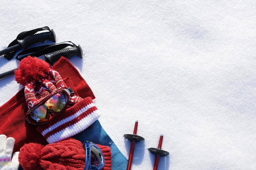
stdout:
<svg viewBox="0 0 256 170">
<path fill-rule="evenodd" d="M 98 147 L 105 159 L 102 170 L 111 170 L 110 147 Z M 72 138 L 46 146 L 29 143 L 20 148 L 18 160 L 24 170 L 83 170 L 85 150 L 80 141 Z"/>
</svg>

